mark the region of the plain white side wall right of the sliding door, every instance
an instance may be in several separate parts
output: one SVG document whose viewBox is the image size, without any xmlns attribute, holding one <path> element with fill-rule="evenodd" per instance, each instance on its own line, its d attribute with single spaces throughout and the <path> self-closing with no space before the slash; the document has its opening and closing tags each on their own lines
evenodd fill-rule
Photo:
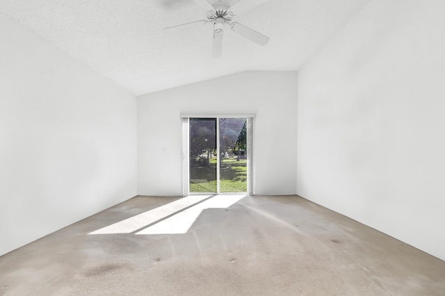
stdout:
<svg viewBox="0 0 445 296">
<path fill-rule="evenodd" d="M 445 259 L 445 1 L 372 0 L 298 75 L 298 194 Z"/>
</svg>

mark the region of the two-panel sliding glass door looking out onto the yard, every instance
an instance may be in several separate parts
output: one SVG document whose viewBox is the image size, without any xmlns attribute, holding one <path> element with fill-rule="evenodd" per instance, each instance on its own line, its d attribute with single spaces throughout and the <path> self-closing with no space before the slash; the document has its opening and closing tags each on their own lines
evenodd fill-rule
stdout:
<svg viewBox="0 0 445 296">
<path fill-rule="evenodd" d="M 249 117 L 185 118 L 184 194 L 250 193 L 251 131 Z"/>
</svg>

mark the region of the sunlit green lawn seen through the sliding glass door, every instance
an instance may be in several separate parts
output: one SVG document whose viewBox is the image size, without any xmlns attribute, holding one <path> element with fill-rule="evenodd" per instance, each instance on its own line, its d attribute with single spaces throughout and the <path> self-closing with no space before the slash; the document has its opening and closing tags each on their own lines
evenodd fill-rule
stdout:
<svg viewBox="0 0 445 296">
<path fill-rule="evenodd" d="M 192 167 L 190 179 L 197 182 L 190 184 L 190 192 L 216 192 L 216 158 L 212 158 L 209 167 Z M 247 161 L 224 158 L 220 170 L 220 192 L 247 192 Z"/>
</svg>

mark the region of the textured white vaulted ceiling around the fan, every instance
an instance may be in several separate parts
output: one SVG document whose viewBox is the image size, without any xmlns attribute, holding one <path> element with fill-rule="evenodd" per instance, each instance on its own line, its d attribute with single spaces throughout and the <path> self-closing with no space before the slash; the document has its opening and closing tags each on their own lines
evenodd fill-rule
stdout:
<svg viewBox="0 0 445 296">
<path fill-rule="evenodd" d="M 266 1 L 234 21 L 270 42 L 260 47 L 227 28 L 219 59 L 211 25 L 163 31 L 205 18 L 193 0 L 0 0 L 0 12 L 138 95 L 246 70 L 298 70 L 368 2 Z"/>
</svg>

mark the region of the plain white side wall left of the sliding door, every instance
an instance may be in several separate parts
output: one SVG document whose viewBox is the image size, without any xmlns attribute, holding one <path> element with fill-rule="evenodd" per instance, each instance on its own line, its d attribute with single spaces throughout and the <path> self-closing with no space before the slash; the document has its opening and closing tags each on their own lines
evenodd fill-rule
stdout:
<svg viewBox="0 0 445 296">
<path fill-rule="evenodd" d="M 0 14 L 0 255 L 136 195 L 136 97 Z"/>
</svg>

